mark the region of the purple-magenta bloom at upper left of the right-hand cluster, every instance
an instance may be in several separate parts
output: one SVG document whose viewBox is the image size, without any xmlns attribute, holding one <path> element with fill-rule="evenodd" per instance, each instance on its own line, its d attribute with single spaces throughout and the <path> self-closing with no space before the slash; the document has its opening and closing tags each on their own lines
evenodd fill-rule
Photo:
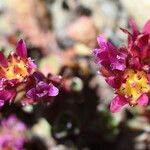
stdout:
<svg viewBox="0 0 150 150">
<path fill-rule="evenodd" d="M 124 70 L 126 68 L 126 55 L 120 52 L 114 45 L 106 41 L 102 36 L 97 38 L 100 49 L 94 49 L 98 64 L 101 64 L 109 71 Z"/>
</svg>

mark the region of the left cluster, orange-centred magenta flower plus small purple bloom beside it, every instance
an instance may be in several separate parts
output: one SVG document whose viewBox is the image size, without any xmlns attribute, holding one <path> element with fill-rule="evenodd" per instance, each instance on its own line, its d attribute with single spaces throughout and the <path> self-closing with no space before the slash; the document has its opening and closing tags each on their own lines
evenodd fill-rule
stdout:
<svg viewBox="0 0 150 150">
<path fill-rule="evenodd" d="M 18 41 L 16 52 L 11 52 L 8 58 L 0 52 L 0 107 L 15 101 L 34 103 L 58 94 L 57 87 L 42 73 L 38 78 L 35 70 L 36 64 L 27 57 L 22 39 Z"/>
</svg>

